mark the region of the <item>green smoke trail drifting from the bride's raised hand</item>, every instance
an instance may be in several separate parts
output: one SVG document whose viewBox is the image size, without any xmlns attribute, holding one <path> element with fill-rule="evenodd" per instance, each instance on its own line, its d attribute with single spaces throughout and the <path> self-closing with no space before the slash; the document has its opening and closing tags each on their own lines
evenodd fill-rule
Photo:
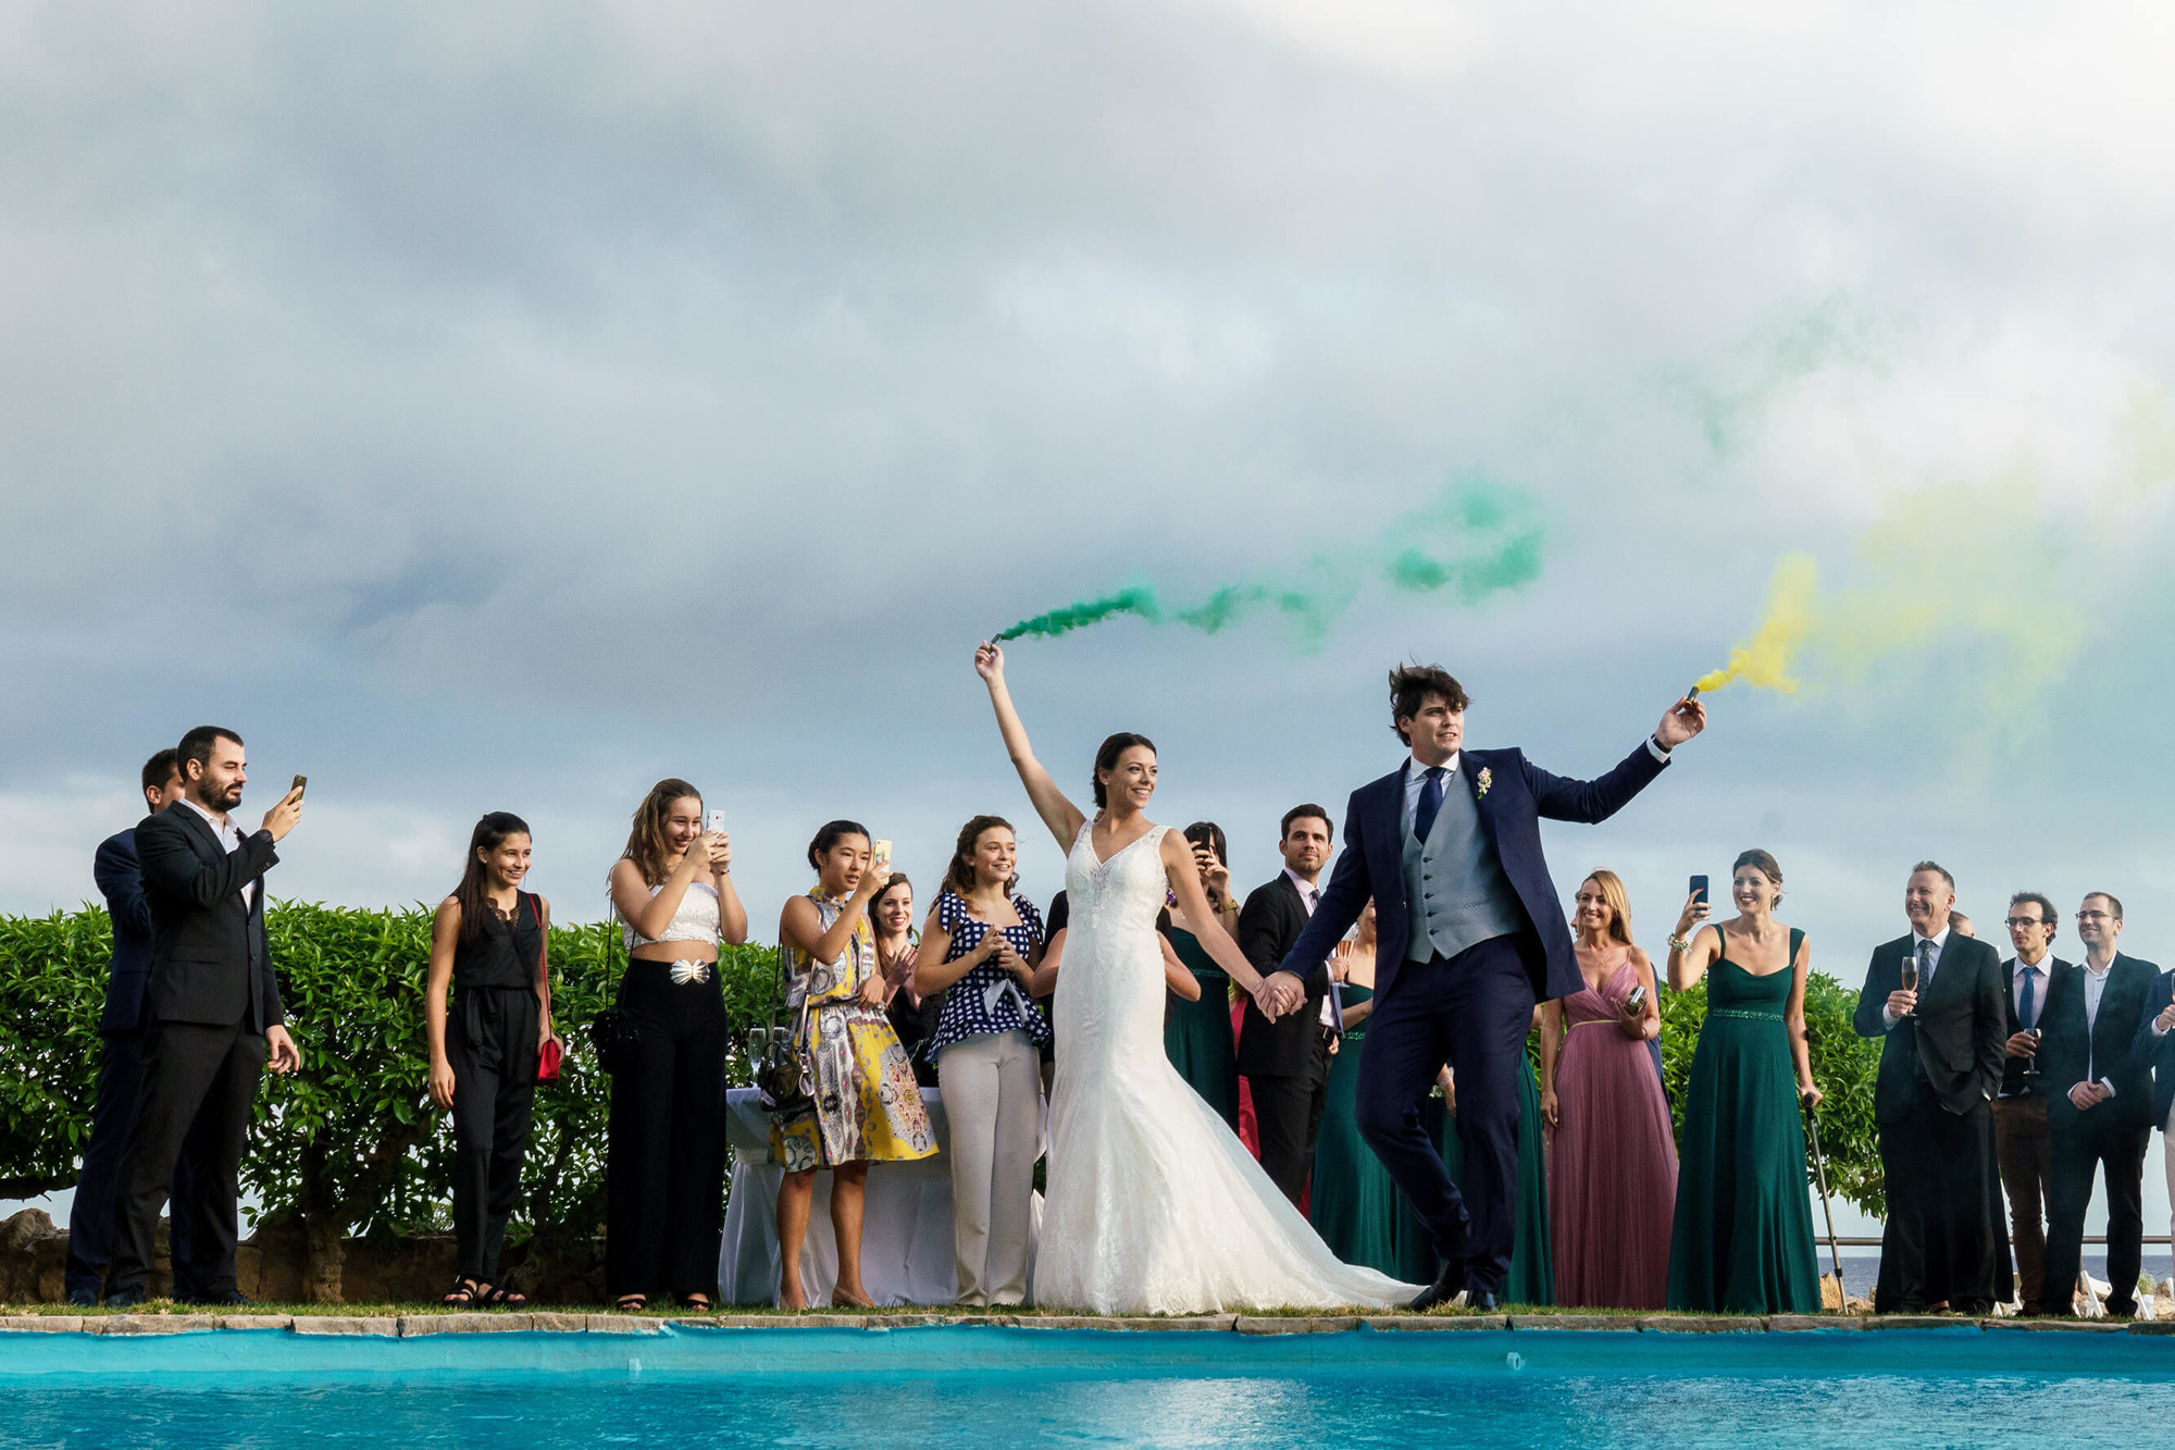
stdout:
<svg viewBox="0 0 2175 1450">
<path fill-rule="evenodd" d="M 1166 607 L 1151 586 L 1135 583 L 1035 614 L 996 638 L 1055 638 L 1120 614 L 1220 634 L 1255 614 L 1275 614 L 1303 644 L 1318 649 L 1370 579 L 1403 594 L 1449 590 L 1466 605 L 1531 583 L 1540 577 L 1544 540 L 1531 516 L 1527 494 L 1464 479 L 1427 507 L 1396 518 L 1375 544 L 1316 553 L 1272 575 L 1218 586 L 1198 605 Z"/>
</svg>

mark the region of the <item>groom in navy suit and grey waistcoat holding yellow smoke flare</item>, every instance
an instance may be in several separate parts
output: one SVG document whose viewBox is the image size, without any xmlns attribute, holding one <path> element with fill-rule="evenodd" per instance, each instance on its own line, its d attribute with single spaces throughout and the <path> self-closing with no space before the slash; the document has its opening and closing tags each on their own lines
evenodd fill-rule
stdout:
<svg viewBox="0 0 2175 1450">
<path fill-rule="evenodd" d="M 1518 1221 L 1518 1054 L 1533 1004 L 1586 986 L 1540 856 L 1540 819 L 1607 821 L 1707 727 L 1681 699 L 1601 779 L 1564 779 L 1516 749 L 1464 749 L 1466 692 L 1440 666 L 1390 671 L 1390 718 L 1412 758 L 1353 790 L 1344 853 L 1314 919 L 1270 978 L 1288 1010 L 1375 901 L 1375 1015 L 1359 1058 L 1359 1134 L 1435 1237 L 1442 1271 L 1412 1306 L 1459 1291 L 1494 1308 Z M 1466 1193 L 1420 1128 L 1449 1062 Z"/>
</svg>

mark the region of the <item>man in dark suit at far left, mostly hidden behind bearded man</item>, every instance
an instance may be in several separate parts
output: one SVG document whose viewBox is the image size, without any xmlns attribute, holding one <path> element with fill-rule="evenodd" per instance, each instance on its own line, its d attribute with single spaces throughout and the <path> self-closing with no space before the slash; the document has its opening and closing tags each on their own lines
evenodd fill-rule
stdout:
<svg viewBox="0 0 2175 1450">
<path fill-rule="evenodd" d="M 152 814 L 181 799 L 181 766 L 163 749 L 144 762 L 144 803 Z M 91 1306 L 113 1258 L 113 1193 L 120 1184 L 122 1150 L 135 1126 L 137 1089 L 144 1082 L 144 980 L 150 975 L 150 904 L 137 869 L 135 830 L 115 832 L 98 845 L 91 867 L 98 893 L 113 919 L 113 969 L 107 975 L 107 1010 L 98 1019 L 98 1099 L 91 1108 L 91 1141 L 83 1147 L 83 1173 L 67 1208 L 67 1302 Z M 194 1147 L 194 1145 L 191 1145 Z M 189 1195 L 196 1154 L 183 1150 L 174 1165 L 174 1200 Z M 176 1285 L 189 1285 L 189 1215 L 174 1215 L 170 1230 Z M 176 1298 L 181 1298 L 176 1289 Z"/>
</svg>

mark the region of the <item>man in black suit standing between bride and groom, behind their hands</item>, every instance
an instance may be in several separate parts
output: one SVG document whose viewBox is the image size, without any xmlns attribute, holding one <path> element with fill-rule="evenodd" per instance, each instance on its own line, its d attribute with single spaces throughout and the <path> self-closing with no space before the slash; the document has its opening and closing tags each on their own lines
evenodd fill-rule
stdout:
<svg viewBox="0 0 2175 1450">
<path fill-rule="evenodd" d="M 1238 914 L 1238 949 L 1264 978 L 1283 964 L 1283 954 L 1307 930 L 1307 919 L 1322 899 L 1318 882 L 1333 838 L 1329 812 L 1320 806 L 1283 812 L 1283 836 L 1277 843 L 1283 871 L 1255 888 Z M 1307 984 L 1305 1004 L 1275 1021 L 1248 997 L 1238 1034 L 1238 1069 L 1253 1095 L 1262 1167 L 1294 1206 L 1307 1191 L 1314 1139 L 1320 1136 L 1322 1106 L 1329 1102 L 1331 1030 L 1322 1025 L 1327 991 L 1329 973 L 1320 973 L 1320 980 Z"/>
</svg>

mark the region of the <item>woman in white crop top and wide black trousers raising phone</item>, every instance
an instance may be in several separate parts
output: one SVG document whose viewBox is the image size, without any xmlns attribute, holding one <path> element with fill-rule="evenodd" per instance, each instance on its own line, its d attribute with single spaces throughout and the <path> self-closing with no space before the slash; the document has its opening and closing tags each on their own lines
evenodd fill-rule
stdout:
<svg viewBox="0 0 2175 1450">
<path fill-rule="evenodd" d="M 718 1287 L 729 1028 L 718 943 L 748 941 L 731 873 L 733 843 L 703 830 L 703 795 L 683 779 L 650 786 L 611 869 L 626 943 L 618 1008 L 639 1034 L 611 1078 L 605 1152 L 605 1291 L 622 1311 L 659 1293 L 707 1311 Z"/>
</svg>

